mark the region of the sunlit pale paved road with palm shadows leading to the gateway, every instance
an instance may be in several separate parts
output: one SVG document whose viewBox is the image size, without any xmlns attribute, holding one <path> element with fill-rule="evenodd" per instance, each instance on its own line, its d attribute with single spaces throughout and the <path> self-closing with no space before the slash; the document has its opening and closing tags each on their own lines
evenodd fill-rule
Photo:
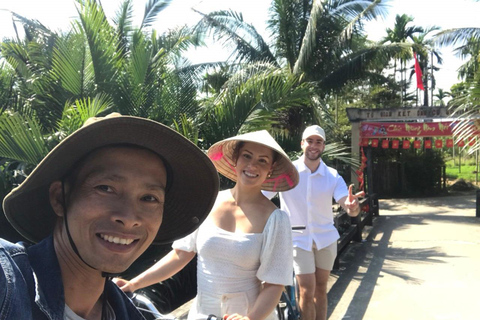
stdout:
<svg viewBox="0 0 480 320">
<path fill-rule="evenodd" d="M 329 281 L 329 320 L 480 319 L 475 194 L 380 200 Z M 189 305 L 174 314 L 181 319 Z"/>
</svg>

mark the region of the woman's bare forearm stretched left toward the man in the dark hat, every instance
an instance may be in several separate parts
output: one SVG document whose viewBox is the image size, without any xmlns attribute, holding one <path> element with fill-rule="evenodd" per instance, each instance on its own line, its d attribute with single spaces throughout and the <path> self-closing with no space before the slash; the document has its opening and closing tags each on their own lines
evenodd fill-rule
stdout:
<svg viewBox="0 0 480 320">
<path fill-rule="evenodd" d="M 195 257 L 195 252 L 173 249 L 152 267 L 130 281 L 117 279 L 116 283 L 123 291 L 133 292 L 170 278 L 182 270 Z"/>
</svg>

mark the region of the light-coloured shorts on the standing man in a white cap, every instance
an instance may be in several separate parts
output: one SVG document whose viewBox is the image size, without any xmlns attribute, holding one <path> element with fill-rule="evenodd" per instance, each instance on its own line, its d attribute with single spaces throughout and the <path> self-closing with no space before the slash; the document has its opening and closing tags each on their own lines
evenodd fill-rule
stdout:
<svg viewBox="0 0 480 320">
<path fill-rule="evenodd" d="M 295 274 L 315 273 L 315 268 L 331 271 L 337 257 L 337 241 L 331 245 L 317 250 L 315 243 L 312 251 L 293 248 L 293 268 Z"/>
</svg>

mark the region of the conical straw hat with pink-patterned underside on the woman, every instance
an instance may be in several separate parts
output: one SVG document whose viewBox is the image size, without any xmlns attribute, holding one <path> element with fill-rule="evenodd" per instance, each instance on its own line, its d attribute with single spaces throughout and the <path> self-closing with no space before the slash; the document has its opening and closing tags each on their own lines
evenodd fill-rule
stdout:
<svg viewBox="0 0 480 320">
<path fill-rule="evenodd" d="M 273 139 L 267 130 L 249 132 L 219 141 L 208 149 L 208 157 L 218 172 L 232 181 L 237 181 L 235 171 L 236 159 L 233 159 L 235 146 L 239 141 L 254 142 L 275 150 L 279 157 L 275 162 L 272 174 L 262 184 L 265 191 L 287 191 L 294 188 L 299 181 L 298 171 L 288 158 L 282 147 Z"/>
</svg>

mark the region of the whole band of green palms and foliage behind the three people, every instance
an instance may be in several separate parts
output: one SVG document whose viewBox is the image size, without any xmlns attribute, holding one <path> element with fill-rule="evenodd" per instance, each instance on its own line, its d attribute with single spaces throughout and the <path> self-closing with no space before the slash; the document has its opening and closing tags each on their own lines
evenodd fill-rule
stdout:
<svg viewBox="0 0 480 320">
<path fill-rule="evenodd" d="M 325 160 L 355 171 L 345 109 L 416 106 L 412 52 L 426 82 L 435 77 L 427 66 L 442 63 L 438 45 L 455 46 L 466 63 L 459 84 L 436 88 L 434 104 L 467 121 L 479 113 L 480 31 L 424 28 L 398 15 L 381 41 L 370 41 L 363 23 L 384 16 L 385 1 L 273 0 L 271 39 L 240 12 L 199 12 L 196 24 L 160 34 L 152 26 L 171 0 L 146 1 L 139 25 L 133 0 L 119 1 L 113 17 L 98 0 L 71 1 L 78 18 L 69 30 L 12 13 L 22 35 L 0 42 L 1 198 L 85 119 L 111 112 L 164 123 L 202 149 L 267 129 L 291 155 L 305 126 L 318 123 L 329 137 Z M 229 59 L 185 59 L 186 50 L 212 38 L 231 48 Z M 430 90 L 422 94 L 431 100 Z"/>
</svg>

